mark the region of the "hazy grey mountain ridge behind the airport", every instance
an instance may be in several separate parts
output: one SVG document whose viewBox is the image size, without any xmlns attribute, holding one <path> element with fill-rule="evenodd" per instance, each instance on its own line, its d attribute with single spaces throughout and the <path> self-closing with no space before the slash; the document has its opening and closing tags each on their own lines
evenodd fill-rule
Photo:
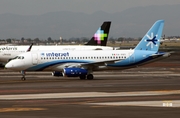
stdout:
<svg viewBox="0 0 180 118">
<path fill-rule="evenodd" d="M 142 37 L 152 24 L 165 20 L 163 34 L 179 35 L 179 5 L 151 5 L 135 7 L 122 12 L 92 14 L 82 12 L 50 12 L 42 15 L 0 14 L 0 39 L 40 38 L 53 39 L 91 38 L 104 21 L 112 21 L 109 37 Z M 144 32 L 145 31 L 145 32 Z"/>
</svg>

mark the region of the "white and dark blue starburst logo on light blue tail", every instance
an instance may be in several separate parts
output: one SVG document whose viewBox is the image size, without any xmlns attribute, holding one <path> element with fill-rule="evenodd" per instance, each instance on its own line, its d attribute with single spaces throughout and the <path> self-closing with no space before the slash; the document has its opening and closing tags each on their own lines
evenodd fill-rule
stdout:
<svg viewBox="0 0 180 118">
<path fill-rule="evenodd" d="M 151 48 L 153 48 L 154 45 L 155 45 L 155 46 L 158 46 L 158 45 L 157 45 L 157 42 L 159 41 L 159 40 L 157 39 L 158 35 L 155 35 L 155 36 L 154 36 L 154 34 L 151 33 L 151 36 L 146 35 L 146 37 L 148 38 L 148 39 L 145 40 L 145 41 L 148 42 L 147 45 L 146 45 L 147 47 L 148 47 L 149 45 L 151 46 Z"/>
</svg>

